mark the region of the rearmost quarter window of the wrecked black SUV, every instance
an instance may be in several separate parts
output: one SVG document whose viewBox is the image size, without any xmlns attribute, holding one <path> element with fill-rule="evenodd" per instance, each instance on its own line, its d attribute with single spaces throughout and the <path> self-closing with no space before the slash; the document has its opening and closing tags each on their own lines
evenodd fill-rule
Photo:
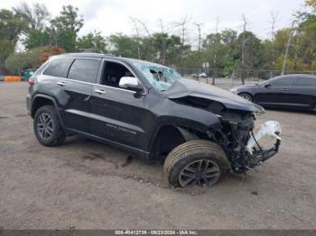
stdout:
<svg viewBox="0 0 316 236">
<path fill-rule="evenodd" d="M 73 59 L 54 59 L 42 74 L 51 77 L 67 77 L 72 61 Z"/>
</svg>

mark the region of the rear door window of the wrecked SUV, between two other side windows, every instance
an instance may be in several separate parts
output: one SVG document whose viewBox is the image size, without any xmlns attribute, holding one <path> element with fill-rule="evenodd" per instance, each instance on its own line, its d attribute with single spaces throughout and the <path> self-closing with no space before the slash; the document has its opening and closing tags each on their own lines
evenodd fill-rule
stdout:
<svg viewBox="0 0 316 236">
<path fill-rule="evenodd" d="M 99 59 L 75 59 L 72 63 L 68 78 L 88 83 L 96 83 Z"/>
</svg>

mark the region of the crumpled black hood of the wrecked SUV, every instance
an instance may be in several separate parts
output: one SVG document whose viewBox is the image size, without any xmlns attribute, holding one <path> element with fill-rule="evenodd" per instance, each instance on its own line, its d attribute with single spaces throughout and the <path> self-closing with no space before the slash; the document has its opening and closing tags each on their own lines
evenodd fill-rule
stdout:
<svg viewBox="0 0 316 236">
<path fill-rule="evenodd" d="M 187 95 L 206 98 L 225 105 L 228 109 L 243 110 L 253 113 L 265 113 L 265 109 L 246 99 L 234 95 L 217 86 L 210 86 L 192 79 L 181 78 L 175 81 L 166 91 L 169 99 L 177 99 Z"/>
</svg>

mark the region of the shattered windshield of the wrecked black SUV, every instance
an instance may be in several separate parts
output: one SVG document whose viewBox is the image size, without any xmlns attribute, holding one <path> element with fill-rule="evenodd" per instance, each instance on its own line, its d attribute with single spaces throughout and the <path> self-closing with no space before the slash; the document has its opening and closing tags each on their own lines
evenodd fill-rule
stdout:
<svg viewBox="0 0 316 236">
<path fill-rule="evenodd" d="M 143 73 L 148 82 L 159 91 L 166 90 L 174 81 L 181 78 L 181 75 L 174 69 L 162 65 L 142 61 L 133 62 L 133 64 Z"/>
</svg>

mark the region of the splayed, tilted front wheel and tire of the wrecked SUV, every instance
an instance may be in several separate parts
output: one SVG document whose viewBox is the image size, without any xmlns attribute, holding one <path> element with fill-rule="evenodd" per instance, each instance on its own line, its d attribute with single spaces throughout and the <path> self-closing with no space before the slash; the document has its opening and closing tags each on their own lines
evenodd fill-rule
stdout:
<svg viewBox="0 0 316 236">
<path fill-rule="evenodd" d="M 228 159 L 212 141 L 188 141 L 169 153 L 163 170 L 169 184 L 175 187 L 212 186 L 228 172 Z"/>
</svg>

